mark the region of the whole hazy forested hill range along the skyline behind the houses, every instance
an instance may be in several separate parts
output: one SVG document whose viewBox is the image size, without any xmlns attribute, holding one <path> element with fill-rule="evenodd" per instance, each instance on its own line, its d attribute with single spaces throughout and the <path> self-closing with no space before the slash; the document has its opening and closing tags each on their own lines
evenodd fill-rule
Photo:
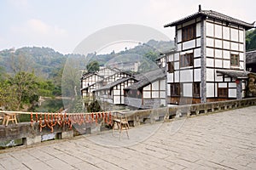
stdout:
<svg viewBox="0 0 256 170">
<path fill-rule="evenodd" d="M 139 54 L 146 56 L 149 52 L 154 52 L 154 60 L 159 52 L 163 52 L 173 48 L 173 42 L 158 42 L 150 40 L 147 43 L 139 44 L 135 48 L 124 49 L 117 54 L 90 54 L 93 60 L 97 60 L 100 65 L 104 65 L 109 59 L 118 54 Z M 53 78 L 51 75 L 61 70 L 66 63 L 67 58 L 84 59 L 79 54 L 61 54 L 52 48 L 24 47 L 10 48 L 0 51 L 0 68 L 6 73 L 20 71 L 34 71 L 38 77 Z M 84 69 L 86 65 L 79 65 L 80 69 Z"/>
</svg>

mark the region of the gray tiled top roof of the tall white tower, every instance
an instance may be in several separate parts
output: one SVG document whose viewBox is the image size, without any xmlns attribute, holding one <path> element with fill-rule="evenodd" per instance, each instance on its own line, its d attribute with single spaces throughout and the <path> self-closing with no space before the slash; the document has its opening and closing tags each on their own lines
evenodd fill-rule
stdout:
<svg viewBox="0 0 256 170">
<path fill-rule="evenodd" d="M 177 26 L 177 25 L 182 24 L 184 22 L 187 22 L 189 20 L 195 19 L 195 18 L 197 18 L 199 16 L 206 16 L 206 17 L 209 17 L 209 18 L 212 18 L 212 19 L 224 20 L 226 22 L 230 22 L 230 23 L 233 23 L 233 24 L 236 24 L 236 25 L 239 25 L 239 26 L 244 26 L 246 30 L 255 27 L 255 26 L 253 26 L 254 23 L 253 24 L 249 24 L 249 23 L 244 22 L 242 20 L 237 20 L 237 19 L 232 18 L 232 17 L 230 17 L 228 15 L 220 14 L 220 13 L 218 13 L 216 11 L 212 11 L 212 10 L 200 10 L 197 13 L 191 14 L 191 15 L 189 15 L 187 17 L 184 17 L 181 20 L 176 20 L 174 22 L 166 24 L 164 27 Z"/>
</svg>

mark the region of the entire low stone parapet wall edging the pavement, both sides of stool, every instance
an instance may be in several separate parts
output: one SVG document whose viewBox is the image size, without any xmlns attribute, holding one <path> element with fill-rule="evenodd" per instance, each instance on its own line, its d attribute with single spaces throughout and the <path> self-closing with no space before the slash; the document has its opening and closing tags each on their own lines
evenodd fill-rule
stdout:
<svg viewBox="0 0 256 170">
<path fill-rule="evenodd" d="M 154 110 L 129 111 L 127 112 L 127 119 L 131 126 L 136 127 L 144 123 L 160 122 L 173 119 L 174 117 L 189 117 L 206 114 L 208 112 L 236 109 L 249 105 L 256 105 L 256 98 L 219 101 L 195 105 L 177 105 L 173 107 L 162 107 Z M 102 126 L 104 125 L 106 124 L 103 123 Z M 99 122 L 84 122 L 82 126 L 73 124 L 72 129 L 70 129 L 68 126 L 55 126 L 53 133 L 51 133 L 51 129 L 48 127 L 43 128 L 42 132 L 40 132 L 38 122 L 34 122 L 33 126 L 31 126 L 31 122 L 21 122 L 17 125 L 9 124 L 7 127 L 0 125 L 0 142 L 12 139 L 22 139 L 23 144 L 29 145 L 41 142 L 42 136 L 48 134 L 55 135 L 55 139 L 68 139 L 73 138 L 74 135 L 81 134 L 82 129 L 85 129 L 83 132 L 84 134 L 97 133 L 104 129 L 101 128 L 102 126 Z"/>
</svg>

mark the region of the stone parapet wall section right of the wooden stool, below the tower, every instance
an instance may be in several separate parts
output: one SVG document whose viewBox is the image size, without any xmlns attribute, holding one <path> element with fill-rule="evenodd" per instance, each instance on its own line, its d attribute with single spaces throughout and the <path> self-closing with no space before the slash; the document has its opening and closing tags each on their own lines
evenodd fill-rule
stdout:
<svg viewBox="0 0 256 170">
<path fill-rule="evenodd" d="M 154 123 L 161 120 L 173 119 L 174 117 L 189 117 L 208 112 L 225 111 L 256 105 L 256 98 L 234 99 L 218 102 L 209 102 L 205 104 L 177 105 L 169 108 L 158 108 L 155 110 L 131 111 L 128 121 L 131 126 L 137 126 L 143 123 Z"/>
</svg>

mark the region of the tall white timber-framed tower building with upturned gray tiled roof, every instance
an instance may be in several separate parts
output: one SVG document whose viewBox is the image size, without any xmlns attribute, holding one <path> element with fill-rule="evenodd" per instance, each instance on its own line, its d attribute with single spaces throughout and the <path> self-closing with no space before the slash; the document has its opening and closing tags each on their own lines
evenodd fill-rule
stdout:
<svg viewBox="0 0 256 170">
<path fill-rule="evenodd" d="M 199 6 L 164 27 L 172 26 L 176 52 L 166 54 L 167 104 L 245 97 L 245 31 L 253 24 Z"/>
</svg>

